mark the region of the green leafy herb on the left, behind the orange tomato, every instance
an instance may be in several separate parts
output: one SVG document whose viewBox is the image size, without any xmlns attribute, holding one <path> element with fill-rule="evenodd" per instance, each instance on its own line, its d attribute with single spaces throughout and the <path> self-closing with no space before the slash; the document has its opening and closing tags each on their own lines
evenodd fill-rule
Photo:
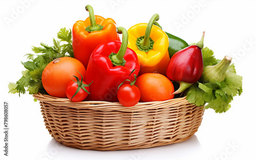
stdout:
<svg viewBox="0 0 256 160">
<path fill-rule="evenodd" d="M 73 57 L 71 30 L 66 28 L 60 29 L 57 33 L 58 40 L 53 39 L 53 46 L 40 43 L 40 47 L 32 46 L 32 50 L 35 54 L 27 54 L 28 61 L 22 62 L 26 68 L 22 71 L 22 77 L 16 83 L 9 83 L 9 93 L 25 94 L 26 91 L 29 94 L 36 94 L 38 92 L 45 93 L 44 87 L 42 87 L 41 75 L 45 67 L 54 59 L 60 57 Z M 61 42 L 65 42 L 62 43 Z"/>
</svg>

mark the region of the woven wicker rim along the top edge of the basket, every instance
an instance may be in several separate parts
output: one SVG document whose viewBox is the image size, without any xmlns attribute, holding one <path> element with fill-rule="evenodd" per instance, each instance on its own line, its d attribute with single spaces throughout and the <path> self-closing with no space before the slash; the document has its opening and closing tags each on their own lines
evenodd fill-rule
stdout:
<svg viewBox="0 0 256 160">
<path fill-rule="evenodd" d="M 138 102 L 134 106 L 123 106 L 120 102 L 109 102 L 109 101 L 80 101 L 72 102 L 68 98 L 59 98 L 47 94 L 37 93 L 33 94 L 33 97 L 39 101 L 51 103 L 56 106 L 65 106 L 73 109 L 93 109 L 100 111 L 123 111 L 123 112 L 136 112 L 149 109 L 165 108 L 166 103 L 170 105 L 179 104 L 174 109 L 180 108 L 185 104 L 191 104 L 186 100 L 186 97 L 173 98 L 163 101 L 151 101 L 151 102 Z M 191 104 L 195 105 L 195 104 Z M 95 108 L 96 107 L 96 108 Z"/>
</svg>

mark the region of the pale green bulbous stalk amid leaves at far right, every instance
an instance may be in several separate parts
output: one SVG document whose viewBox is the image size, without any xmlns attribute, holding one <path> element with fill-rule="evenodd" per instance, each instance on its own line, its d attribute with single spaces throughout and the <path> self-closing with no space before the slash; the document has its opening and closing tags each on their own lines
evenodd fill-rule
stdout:
<svg viewBox="0 0 256 160">
<path fill-rule="evenodd" d="M 226 71 L 228 66 L 231 63 L 232 58 L 225 56 L 224 59 L 215 66 L 206 66 L 204 67 L 201 81 L 203 83 L 208 82 L 222 82 L 226 77 Z"/>
</svg>

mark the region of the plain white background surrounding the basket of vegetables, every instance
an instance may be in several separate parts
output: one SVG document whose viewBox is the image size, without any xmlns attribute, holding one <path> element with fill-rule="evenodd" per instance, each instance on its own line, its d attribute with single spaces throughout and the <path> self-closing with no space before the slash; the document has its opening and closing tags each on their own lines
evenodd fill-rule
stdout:
<svg viewBox="0 0 256 160">
<path fill-rule="evenodd" d="M 256 159 L 255 155 L 255 1 L 1 1 L 0 2 L 1 96 L 0 159 Z M 113 18 L 129 29 L 160 15 L 163 30 L 186 40 L 200 40 L 222 59 L 233 57 L 243 76 L 243 94 L 234 97 L 223 114 L 206 110 L 198 132 L 173 145 L 125 151 L 90 151 L 63 146 L 49 135 L 32 95 L 8 94 L 8 83 L 25 70 L 20 61 L 40 42 L 52 45 L 60 28 L 84 20 L 92 5 L 95 15 Z M 16 14 L 14 12 L 17 12 Z M 12 19 L 7 22 L 6 19 Z M 3 103 L 8 101 L 9 156 L 4 156 Z"/>
</svg>

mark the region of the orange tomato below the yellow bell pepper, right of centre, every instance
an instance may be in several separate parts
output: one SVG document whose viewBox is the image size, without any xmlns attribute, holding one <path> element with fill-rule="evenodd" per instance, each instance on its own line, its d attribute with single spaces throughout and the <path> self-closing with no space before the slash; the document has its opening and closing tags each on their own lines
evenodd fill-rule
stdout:
<svg viewBox="0 0 256 160">
<path fill-rule="evenodd" d="M 159 73 L 144 73 L 137 78 L 135 85 L 140 90 L 140 102 L 160 101 L 174 98 L 174 85 Z"/>
</svg>

